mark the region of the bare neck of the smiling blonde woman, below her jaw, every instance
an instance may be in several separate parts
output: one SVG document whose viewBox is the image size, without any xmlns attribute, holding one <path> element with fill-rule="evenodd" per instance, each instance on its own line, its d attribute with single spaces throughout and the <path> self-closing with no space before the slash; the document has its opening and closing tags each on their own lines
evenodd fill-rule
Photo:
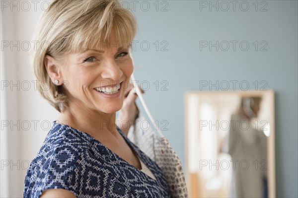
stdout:
<svg viewBox="0 0 298 198">
<path fill-rule="evenodd" d="M 98 136 L 110 132 L 117 135 L 116 112 L 107 114 L 87 109 L 83 105 L 69 105 L 63 111 L 58 121 L 91 136 Z"/>
</svg>

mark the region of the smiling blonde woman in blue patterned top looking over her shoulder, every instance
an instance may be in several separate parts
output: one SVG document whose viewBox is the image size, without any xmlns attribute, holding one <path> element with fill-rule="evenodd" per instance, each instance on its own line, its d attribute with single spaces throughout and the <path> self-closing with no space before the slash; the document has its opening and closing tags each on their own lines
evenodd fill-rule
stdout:
<svg viewBox="0 0 298 198">
<path fill-rule="evenodd" d="M 39 92 L 61 114 L 31 162 L 24 197 L 169 197 L 160 168 L 115 122 L 121 108 L 122 121 L 137 112 L 129 84 L 136 27 L 117 0 L 54 0 L 43 14 L 33 66 Z"/>
</svg>

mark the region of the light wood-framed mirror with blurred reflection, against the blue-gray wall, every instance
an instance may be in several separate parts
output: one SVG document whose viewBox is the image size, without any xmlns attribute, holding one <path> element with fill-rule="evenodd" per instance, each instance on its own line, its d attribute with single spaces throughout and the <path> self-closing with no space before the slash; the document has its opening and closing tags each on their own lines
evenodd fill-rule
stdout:
<svg viewBox="0 0 298 198">
<path fill-rule="evenodd" d="M 188 92 L 191 198 L 275 197 L 274 92 Z"/>
</svg>

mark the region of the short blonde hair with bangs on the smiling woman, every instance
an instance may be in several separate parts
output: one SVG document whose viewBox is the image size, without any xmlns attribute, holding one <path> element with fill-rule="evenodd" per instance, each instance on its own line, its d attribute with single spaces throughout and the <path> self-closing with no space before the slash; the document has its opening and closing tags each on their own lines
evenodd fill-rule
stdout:
<svg viewBox="0 0 298 198">
<path fill-rule="evenodd" d="M 137 22 L 130 10 L 118 0 L 54 0 L 40 18 L 30 53 L 37 78 L 37 89 L 59 112 L 67 106 L 63 85 L 50 79 L 44 58 L 50 55 L 61 60 L 68 53 L 77 53 L 96 46 L 101 38 L 108 41 L 111 29 L 119 42 L 131 42 L 137 32 Z"/>
</svg>

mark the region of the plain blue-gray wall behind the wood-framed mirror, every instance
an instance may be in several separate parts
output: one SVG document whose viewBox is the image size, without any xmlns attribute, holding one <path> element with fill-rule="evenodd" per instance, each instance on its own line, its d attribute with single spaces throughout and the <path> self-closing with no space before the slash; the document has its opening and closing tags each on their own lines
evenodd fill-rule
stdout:
<svg viewBox="0 0 298 198">
<path fill-rule="evenodd" d="M 236 90 L 245 89 L 247 82 L 249 89 L 255 90 L 257 80 L 257 90 L 265 86 L 276 93 L 277 197 L 298 197 L 297 1 L 258 1 L 257 11 L 253 4 L 255 1 L 236 1 L 234 11 L 230 1 L 225 1 L 229 3 L 226 11 L 226 3 L 215 0 L 212 4 L 218 3 L 218 11 L 216 7 L 211 7 L 210 11 L 210 1 L 171 0 L 167 1 L 168 4 L 160 1 L 158 11 L 155 1 L 148 2 L 148 11 L 147 3 L 138 3 L 134 11 L 139 23 L 133 52 L 135 77 L 144 81 L 145 88 L 146 80 L 149 81 L 145 100 L 155 120 L 168 121 L 168 131 L 163 132 L 183 165 L 185 92 L 217 89 L 215 86 L 200 87 L 202 80 L 207 80 L 208 84 L 210 81 L 215 84 L 218 80 L 219 90 L 225 88 L 224 80 L 229 82 L 229 90 L 233 90 L 231 80 L 238 80 Z M 246 2 L 249 8 L 244 11 Z M 168 11 L 161 11 L 163 6 Z M 157 51 L 156 41 L 159 42 Z M 209 41 L 212 44 L 219 41 L 218 51 L 216 47 L 211 50 L 209 46 L 203 47 L 205 41 L 208 44 Z M 226 51 L 227 45 L 223 41 L 229 43 Z M 235 41 L 234 50 L 231 41 Z M 255 41 L 258 42 L 257 48 Z M 148 43 L 150 48 L 146 51 Z M 245 51 L 246 43 L 249 48 Z M 168 51 L 162 51 L 161 47 L 166 44 L 168 46 L 164 49 Z M 156 80 L 159 81 L 158 90 L 153 84 Z M 161 84 L 162 80 L 168 82 L 168 91 L 161 91 L 161 87 L 166 85 Z M 164 123 L 159 124 L 164 126 Z"/>
</svg>

